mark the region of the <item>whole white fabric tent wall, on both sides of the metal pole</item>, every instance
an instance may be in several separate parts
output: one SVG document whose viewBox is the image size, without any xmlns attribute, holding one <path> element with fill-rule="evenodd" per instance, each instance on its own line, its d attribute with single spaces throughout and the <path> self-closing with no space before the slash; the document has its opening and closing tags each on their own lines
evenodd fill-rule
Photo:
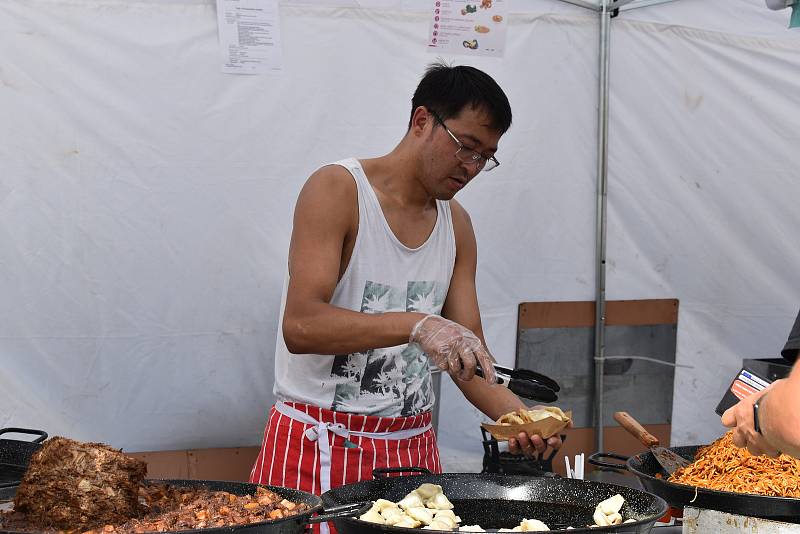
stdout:
<svg viewBox="0 0 800 534">
<path fill-rule="evenodd" d="M 131 451 L 259 442 L 296 194 L 394 146 L 435 59 L 427 3 L 358 5 L 282 5 L 283 72 L 232 76 L 210 2 L 0 4 L 0 426 Z M 594 298 L 597 135 L 596 15 L 510 5 L 505 57 L 469 62 L 514 125 L 459 195 L 505 364 L 520 301 Z M 787 18 L 679 0 L 612 23 L 608 298 L 681 300 L 679 443 L 719 435 L 741 359 L 776 355 L 800 303 Z M 443 382 L 445 468 L 474 469 L 482 417 Z"/>
</svg>

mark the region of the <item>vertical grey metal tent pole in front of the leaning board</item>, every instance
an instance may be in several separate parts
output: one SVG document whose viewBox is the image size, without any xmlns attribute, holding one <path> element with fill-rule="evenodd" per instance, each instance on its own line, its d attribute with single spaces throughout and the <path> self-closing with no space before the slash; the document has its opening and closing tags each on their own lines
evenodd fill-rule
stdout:
<svg viewBox="0 0 800 534">
<path fill-rule="evenodd" d="M 594 400 L 595 445 L 603 450 L 603 373 L 606 333 L 606 210 L 608 203 L 608 61 L 610 0 L 600 8 L 600 76 L 597 120 L 597 210 L 595 239 Z"/>
</svg>

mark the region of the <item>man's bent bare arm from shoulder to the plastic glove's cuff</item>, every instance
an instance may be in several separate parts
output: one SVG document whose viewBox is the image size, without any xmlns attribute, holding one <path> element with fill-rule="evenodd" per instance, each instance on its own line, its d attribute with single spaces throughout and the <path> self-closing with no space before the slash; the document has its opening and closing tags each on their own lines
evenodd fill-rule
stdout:
<svg viewBox="0 0 800 534">
<path fill-rule="evenodd" d="M 330 304 L 346 241 L 358 232 L 358 190 L 339 165 L 323 167 L 297 198 L 289 246 L 283 337 L 293 353 L 349 354 L 408 342 L 424 314 L 366 314 Z"/>
</svg>

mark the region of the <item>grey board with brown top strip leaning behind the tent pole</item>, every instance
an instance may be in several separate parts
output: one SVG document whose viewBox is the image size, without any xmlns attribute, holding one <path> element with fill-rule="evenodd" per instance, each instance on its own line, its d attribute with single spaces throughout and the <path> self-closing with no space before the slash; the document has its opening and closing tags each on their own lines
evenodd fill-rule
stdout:
<svg viewBox="0 0 800 534">
<path fill-rule="evenodd" d="M 643 423 L 672 418 L 677 299 L 606 303 L 603 424 L 611 413 L 631 412 Z M 594 420 L 594 301 L 523 302 L 519 305 L 515 365 L 542 372 L 562 390 L 558 406 L 572 410 L 578 427 Z M 663 362 L 663 363 L 661 363 Z"/>
</svg>

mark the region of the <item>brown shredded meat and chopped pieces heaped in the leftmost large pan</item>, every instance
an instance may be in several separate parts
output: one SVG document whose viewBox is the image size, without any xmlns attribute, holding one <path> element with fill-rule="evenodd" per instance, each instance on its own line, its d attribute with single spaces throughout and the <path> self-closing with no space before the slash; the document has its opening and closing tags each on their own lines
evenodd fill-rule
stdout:
<svg viewBox="0 0 800 534">
<path fill-rule="evenodd" d="M 31 458 L 0 531 L 139 533 L 235 527 L 309 510 L 266 488 L 255 495 L 144 481 L 144 462 L 102 443 L 62 437 Z M 188 485 L 187 485 L 188 486 Z"/>
</svg>

